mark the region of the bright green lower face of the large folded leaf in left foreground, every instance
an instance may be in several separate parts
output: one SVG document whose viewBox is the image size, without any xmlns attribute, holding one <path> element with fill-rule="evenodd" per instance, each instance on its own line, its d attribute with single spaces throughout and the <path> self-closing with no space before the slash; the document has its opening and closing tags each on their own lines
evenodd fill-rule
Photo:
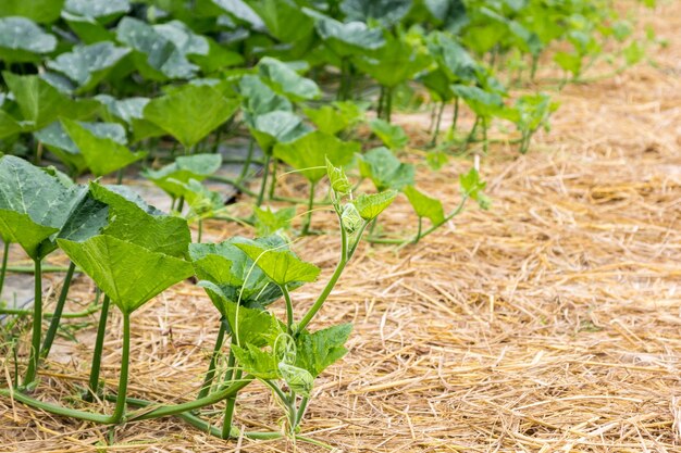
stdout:
<svg viewBox="0 0 681 453">
<path fill-rule="evenodd" d="M 113 236 L 59 247 L 121 309 L 133 313 L 166 288 L 194 275 L 191 264 Z"/>
</svg>

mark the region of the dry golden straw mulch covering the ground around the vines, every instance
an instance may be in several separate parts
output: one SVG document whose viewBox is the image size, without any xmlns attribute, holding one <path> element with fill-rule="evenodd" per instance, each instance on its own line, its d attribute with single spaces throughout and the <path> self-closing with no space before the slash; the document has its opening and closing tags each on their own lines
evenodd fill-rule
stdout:
<svg viewBox="0 0 681 453">
<path fill-rule="evenodd" d="M 497 146 L 483 158 L 492 210 L 467 209 L 399 251 L 362 246 L 311 326 L 352 322 L 355 332 L 317 383 L 307 436 L 344 452 L 681 452 L 681 5 L 661 3 L 641 14 L 669 39 L 649 54 L 656 67 L 568 86 L 552 134 L 530 154 Z M 398 122 L 409 128 L 412 117 Z M 419 186 L 454 206 L 451 181 L 469 166 L 423 169 Z M 413 221 L 400 200 L 382 226 L 404 231 Z M 213 236 L 239 232 L 222 228 L 208 223 Z M 329 276 L 336 244 L 297 243 L 324 269 L 296 292 L 299 306 Z M 76 280 L 75 299 L 90 291 Z M 132 395 L 191 398 L 218 323 L 202 290 L 177 286 L 133 322 Z M 109 389 L 120 323 L 114 314 L 106 343 Z M 84 385 L 95 329 L 78 332 L 81 344 L 58 340 L 42 398 Z M 238 400 L 239 426 L 276 430 L 278 417 L 259 385 Z M 3 452 L 322 451 L 225 442 L 174 418 L 119 427 L 106 446 L 109 436 L 0 400 Z"/>
</svg>

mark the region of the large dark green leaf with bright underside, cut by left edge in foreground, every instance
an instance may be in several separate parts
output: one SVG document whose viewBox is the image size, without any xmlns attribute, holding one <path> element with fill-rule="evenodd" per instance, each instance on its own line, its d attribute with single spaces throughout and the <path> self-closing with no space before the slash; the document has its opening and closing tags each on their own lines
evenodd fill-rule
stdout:
<svg viewBox="0 0 681 453">
<path fill-rule="evenodd" d="M 23 159 L 0 158 L 0 236 L 42 259 L 54 249 L 49 238 L 69 218 L 77 190 Z"/>
</svg>

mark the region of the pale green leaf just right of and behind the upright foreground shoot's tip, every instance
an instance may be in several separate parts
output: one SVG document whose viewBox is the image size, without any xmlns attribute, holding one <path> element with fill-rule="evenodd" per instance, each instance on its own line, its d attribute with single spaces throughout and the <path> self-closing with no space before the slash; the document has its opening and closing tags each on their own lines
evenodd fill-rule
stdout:
<svg viewBox="0 0 681 453">
<path fill-rule="evenodd" d="M 401 190 L 413 184 L 414 168 L 399 161 L 387 148 L 374 148 L 360 156 L 359 172 L 370 178 L 379 191 Z"/>
</svg>

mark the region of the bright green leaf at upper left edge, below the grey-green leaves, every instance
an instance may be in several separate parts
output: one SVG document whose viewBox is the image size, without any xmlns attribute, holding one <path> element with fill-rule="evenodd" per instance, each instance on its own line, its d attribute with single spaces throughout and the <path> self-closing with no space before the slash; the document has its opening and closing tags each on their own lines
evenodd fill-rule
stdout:
<svg viewBox="0 0 681 453">
<path fill-rule="evenodd" d="M 72 100 L 37 75 L 18 76 L 3 72 L 2 77 L 14 95 L 18 109 L 30 130 L 42 129 L 60 116 L 87 119 L 99 109 L 99 102 Z"/>
</svg>

